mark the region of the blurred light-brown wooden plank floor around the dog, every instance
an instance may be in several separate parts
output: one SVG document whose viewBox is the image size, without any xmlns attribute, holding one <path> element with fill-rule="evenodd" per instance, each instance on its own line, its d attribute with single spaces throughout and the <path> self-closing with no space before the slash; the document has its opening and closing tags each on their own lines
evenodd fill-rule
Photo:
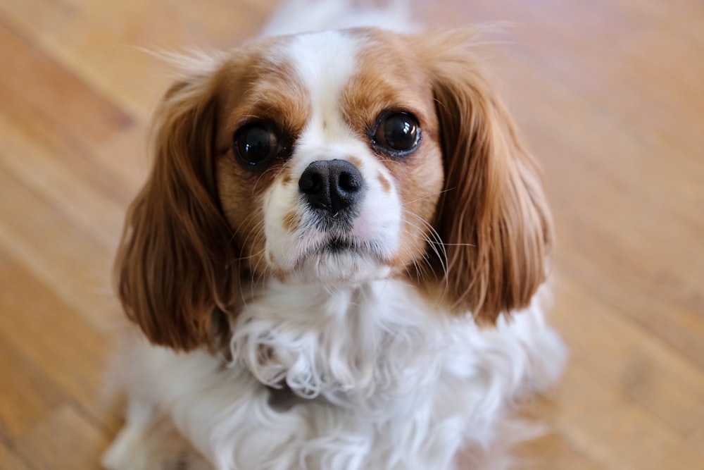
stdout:
<svg viewBox="0 0 704 470">
<path fill-rule="evenodd" d="M 704 4 L 430 3 L 508 22 L 490 61 L 558 225 L 572 358 L 526 464 L 704 469 Z M 168 84 L 140 48 L 230 47 L 274 4 L 0 1 L 0 469 L 96 469 L 119 425 L 111 260 Z"/>
</svg>

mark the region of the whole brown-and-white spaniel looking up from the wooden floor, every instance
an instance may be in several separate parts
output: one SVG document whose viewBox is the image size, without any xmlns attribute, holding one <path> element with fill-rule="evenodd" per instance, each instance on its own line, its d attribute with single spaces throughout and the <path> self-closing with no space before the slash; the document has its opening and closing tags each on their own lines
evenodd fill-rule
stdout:
<svg viewBox="0 0 704 470">
<path fill-rule="evenodd" d="M 187 61 L 118 254 L 141 333 L 106 468 L 449 470 L 506 439 L 565 350 L 539 171 L 475 43 L 357 27 Z"/>
</svg>

